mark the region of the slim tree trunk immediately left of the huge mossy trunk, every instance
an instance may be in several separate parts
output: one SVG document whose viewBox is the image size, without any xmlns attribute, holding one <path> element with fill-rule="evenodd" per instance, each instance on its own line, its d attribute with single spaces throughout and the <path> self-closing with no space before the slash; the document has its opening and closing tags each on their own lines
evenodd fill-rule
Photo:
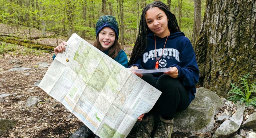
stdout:
<svg viewBox="0 0 256 138">
<path fill-rule="evenodd" d="M 195 46 L 201 27 L 201 0 L 194 0 L 194 26 L 191 43 Z"/>
</svg>

